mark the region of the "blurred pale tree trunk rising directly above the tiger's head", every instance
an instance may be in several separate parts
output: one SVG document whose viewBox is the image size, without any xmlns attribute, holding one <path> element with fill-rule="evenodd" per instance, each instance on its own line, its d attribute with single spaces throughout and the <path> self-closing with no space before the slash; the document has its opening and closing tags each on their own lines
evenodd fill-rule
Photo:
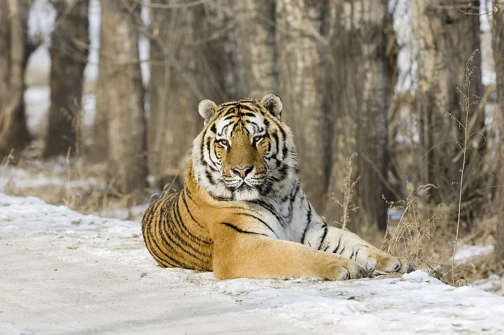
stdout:
<svg viewBox="0 0 504 335">
<path fill-rule="evenodd" d="M 235 0 L 244 96 L 261 99 L 278 93 L 275 4 L 272 0 Z"/>
</svg>

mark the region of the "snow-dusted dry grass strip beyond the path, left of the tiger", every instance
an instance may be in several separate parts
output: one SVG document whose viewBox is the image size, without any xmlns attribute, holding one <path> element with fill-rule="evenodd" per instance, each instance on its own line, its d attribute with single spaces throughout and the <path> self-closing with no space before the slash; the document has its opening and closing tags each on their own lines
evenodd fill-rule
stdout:
<svg viewBox="0 0 504 335">
<path fill-rule="evenodd" d="M 120 194 L 107 186 L 105 164 L 87 164 L 82 158 L 69 155 L 42 160 L 42 146 L 37 142 L 27 148 L 15 166 L 9 158 L 4 159 L 0 179 L 5 193 L 36 196 L 83 214 L 139 219 L 141 213 L 134 209 L 148 203 L 151 190 L 145 190 L 141 196 Z"/>
</svg>

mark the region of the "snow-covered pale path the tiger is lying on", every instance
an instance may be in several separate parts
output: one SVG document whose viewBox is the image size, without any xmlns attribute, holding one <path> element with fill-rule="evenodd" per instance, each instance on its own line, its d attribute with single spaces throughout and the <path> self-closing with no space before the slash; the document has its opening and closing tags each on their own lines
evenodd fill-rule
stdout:
<svg viewBox="0 0 504 335">
<path fill-rule="evenodd" d="M 0 194 L 0 334 L 504 332 L 504 298 L 417 271 L 217 281 L 156 266 L 136 222 Z"/>
</svg>

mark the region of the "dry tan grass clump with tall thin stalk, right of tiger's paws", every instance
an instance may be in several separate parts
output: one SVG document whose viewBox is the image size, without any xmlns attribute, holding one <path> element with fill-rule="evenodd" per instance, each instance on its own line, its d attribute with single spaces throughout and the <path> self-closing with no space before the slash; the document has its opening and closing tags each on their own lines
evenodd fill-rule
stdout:
<svg viewBox="0 0 504 335">
<path fill-rule="evenodd" d="M 422 201 L 423 197 L 421 194 L 435 187 L 434 185 L 428 184 L 420 186 L 414 191 L 412 185 L 407 184 L 407 199 L 405 201 L 399 201 L 399 203 L 390 203 L 391 208 L 395 206 L 398 209 L 402 209 L 403 212 L 392 231 L 389 231 L 389 227 L 391 226 L 389 222 L 389 227 L 382 243 L 383 250 L 407 258 L 413 262 L 417 268 L 424 269 L 445 283 L 454 286 L 465 285 L 468 281 L 488 276 L 490 273 L 502 272 L 503 269 L 502 264 L 499 265 L 499 263 L 493 259 L 491 253 L 475 258 L 474 261 L 477 265 L 471 262 L 456 264 L 455 261 L 457 245 L 460 242 L 459 236 L 461 233 L 461 208 L 463 206 L 462 192 L 464 187 L 465 163 L 468 150 L 470 150 L 470 148 L 468 148 L 468 142 L 472 136 L 482 136 L 478 130 L 471 131 L 472 125 L 470 124 L 471 119 L 474 120 L 476 114 L 482 113 L 482 108 L 475 108 L 475 113 L 473 113 L 472 116 L 469 115 L 470 109 L 474 108 L 474 105 L 484 101 L 483 98 L 470 94 L 470 86 L 475 71 L 475 68 L 472 67 L 472 62 L 476 52 L 478 52 L 478 50 L 473 52 L 466 63 L 464 71 L 464 77 L 466 79 L 465 92 L 459 89 L 460 94 L 464 97 L 462 109 L 465 120 L 460 121 L 446 109 L 443 109 L 446 115 L 457 123 L 463 134 L 462 141 L 457 141 L 462 155 L 460 181 L 453 181 L 454 184 L 458 184 L 459 186 L 458 203 L 451 204 L 450 206 L 444 204 L 438 204 L 437 206 L 429 205 L 426 201 L 425 203 Z M 480 158 L 484 159 L 482 157 Z M 485 163 L 488 164 L 486 161 Z M 418 164 L 418 162 L 416 164 Z M 493 171 L 491 166 L 490 170 Z M 448 218 L 446 215 L 446 213 L 453 212 L 453 209 L 457 211 L 455 221 Z M 489 226 L 492 225 L 485 225 L 485 222 L 494 222 L 493 228 L 489 228 Z M 488 241 L 494 232 L 495 223 L 495 220 L 492 220 L 491 217 L 484 218 L 478 222 L 478 225 L 472 228 L 469 235 L 463 239 L 462 244 L 495 245 L 494 240 Z M 476 241 L 476 238 L 478 238 L 479 241 Z M 440 246 L 445 247 L 440 249 Z M 453 252 L 450 250 L 452 249 L 450 248 L 451 246 L 453 246 Z"/>
</svg>

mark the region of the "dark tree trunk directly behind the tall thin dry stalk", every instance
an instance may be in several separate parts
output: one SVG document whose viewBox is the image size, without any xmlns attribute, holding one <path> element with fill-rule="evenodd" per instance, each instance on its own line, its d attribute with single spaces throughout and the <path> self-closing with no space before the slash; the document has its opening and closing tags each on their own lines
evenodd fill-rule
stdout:
<svg viewBox="0 0 504 335">
<path fill-rule="evenodd" d="M 453 2 L 454 5 L 466 5 L 466 8 L 462 7 L 463 12 L 468 12 L 466 15 L 462 13 L 459 9 L 451 8 L 445 11 L 445 26 L 446 26 L 446 36 L 448 45 L 448 55 L 451 73 L 451 86 L 450 91 L 453 97 L 450 101 L 453 102 L 452 106 L 447 106 L 447 109 L 451 111 L 454 117 L 456 117 L 461 123 L 465 123 L 466 111 L 463 109 L 466 101 L 465 95 L 468 95 L 472 103 L 482 98 L 484 95 L 483 84 L 481 82 L 481 56 L 480 56 L 480 28 L 479 28 L 479 1 L 467 2 L 465 0 L 458 0 Z M 473 10 L 472 8 L 475 8 Z M 475 52 L 475 50 L 478 50 Z M 472 59 L 472 64 L 469 65 L 468 70 L 474 72 L 472 73 L 472 81 L 469 83 L 469 87 L 466 85 L 466 77 L 464 73 L 466 71 L 466 64 L 468 59 L 474 52 L 474 57 Z M 458 88 L 458 89 L 457 89 Z M 459 92 L 459 89 L 461 92 Z M 478 134 L 472 135 L 468 140 L 468 149 L 466 156 L 466 163 L 464 169 L 464 180 L 462 188 L 462 202 L 464 209 L 464 220 L 473 221 L 474 219 L 481 219 L 483 215 L 482 200 L 483 196 L 488 196 L 490 189 L 488 191 L 481 191 L 481 189 L 490 186 L 486 183 L 489 181 L 487 178 L 488 166 L 485 164 L 484 160 L 481 158 L 485 155 L 485 139 L 481 134 L 484 133 L 484 104 L 474 104 L 469 108 L 468 120 L 469 126 L 467 128 L 468 135 L 474 132 L 479 132 Z M 464 133 L 457 124 L 454 124 L 454 134 L 452 138 L 457 138 L 459 142 L 463 142 Z M 462 166 L 462 154 L 461 150 L 456 145 L 450 145 L 453 148 L 451 164 L 455 165 L 457 169 Z M 446 148 L 446 147 L 445 147 Z M 445 150 L 446 154 L 446 150 Z M 481 157 L 480 157 L 481 156 Z M 452 170 L 453 171 L 453 170 Z M 453 181 L 460 182 L 460 172 L 453 171 L 454 175 L 450 176 Z M 451 186 L 451 185 L 450 185 Z M 457 203 L 459 197 L 459 187 L 460 184 L 454 184 L 455 189 L 452 191 L 450 196 L 444 195 L 445 199 L 455 199 L 455 201 L 450 201 L 450 203 Z"/>
</svg>

